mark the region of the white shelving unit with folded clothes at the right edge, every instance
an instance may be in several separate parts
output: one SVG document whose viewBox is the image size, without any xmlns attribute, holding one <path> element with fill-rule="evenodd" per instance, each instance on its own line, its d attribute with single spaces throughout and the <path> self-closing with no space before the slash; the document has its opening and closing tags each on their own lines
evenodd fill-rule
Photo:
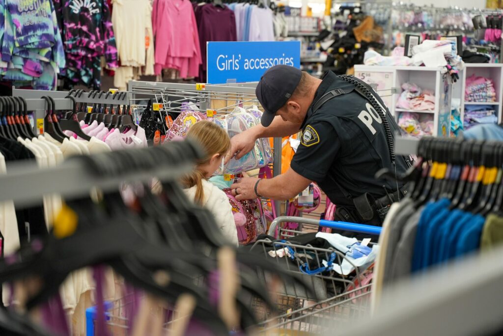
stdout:
<svg viewBox="0 0 503 336">
<path fill-rule="evenodd" d="M 492 79 L 494 91 L 496 92 L 495 102 L 468 102 L 465 97 L 466 78 L 475 74 Z M 467 106 L 485 105 L 493 106 L 498 123 L 502 121 L 501 110 L 503 107 L 503 64 L 501 63 L 465 63 L 465 68 L 460 72 L 460 80 L 454 85 L 453 97 L 461 100 L 460 113 L 461 120 L 464 120 L 464 113 Z"/>
</svg>

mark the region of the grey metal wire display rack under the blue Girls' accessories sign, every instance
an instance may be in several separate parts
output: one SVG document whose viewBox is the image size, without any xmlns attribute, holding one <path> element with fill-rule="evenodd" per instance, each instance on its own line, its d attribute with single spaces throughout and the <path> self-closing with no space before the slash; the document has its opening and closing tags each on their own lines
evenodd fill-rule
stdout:
<svg viewBox="0 0 503 336">
<path fill-rule="evenodd" d="M 186 84 L 130 80 L 128 83 L 128 93 L 132 102 L 150 99 L 153 95 L 157 99 L 157 103 L 167 105 L 167 107 L 163 106 L 163 111 L 166 112 L 181 112 L 180 107 L 169 107 L 170 101 L 165 99 L 166 95 L 175 97 L 175 102 L 178 103 L 194 99 L 198 101 L 200 112 L 206 113 L 207 109 L 211 109 L 212 99 L 233 102 L 240 101 L 241 103 L 255 102 L 257 106 L 260 107 L 261 105 L 255 94 L 257 83 L 258 82 L 242 84 L 228 83 L 222 85 L 206 84 L 203 87 L 201 84 L 197 83 Z M 217 109 L 216 112 L 217 114 L 231 112 L 236 105 L 238 104 L 231 104 L 231 106 L 227 106 L 226 108 Z M 278 176 L 281 174 L 281 138 L 274 138 L 274 148 L 280 148 L 280 150 L 273 150 L 273 176 Z M 281 204 L 280 202 L 274 202 L 274 204 L 276 206 L 276 213 L 279 214 Z"/>
</svg>

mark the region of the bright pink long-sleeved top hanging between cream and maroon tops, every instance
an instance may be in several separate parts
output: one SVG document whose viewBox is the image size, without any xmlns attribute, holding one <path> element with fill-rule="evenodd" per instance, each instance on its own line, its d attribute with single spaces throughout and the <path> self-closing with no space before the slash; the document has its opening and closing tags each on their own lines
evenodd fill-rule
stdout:
<svg viewBox="0 0 503 336">
<path fill-rule="evenodd" d="M 202 59 L 192 3 L 189 0 L 154 0 L 152 29 L 155 74 L 160 74 L 162 68 L 174 68 L 182 78 L 197 76 Z"/>
</svg>

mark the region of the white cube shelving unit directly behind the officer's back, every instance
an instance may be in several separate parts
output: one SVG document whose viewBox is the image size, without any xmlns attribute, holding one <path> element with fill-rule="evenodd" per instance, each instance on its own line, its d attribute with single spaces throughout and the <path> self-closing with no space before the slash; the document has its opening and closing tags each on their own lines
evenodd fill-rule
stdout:
<svg viewBox="0 0 503 336">
<path fill-rule="evenodd" d="M 433 115 L 434 136 L 449 136 L 451 119 L 452 85 L 441 69 L 426 66 L 371 66 L 355 65 L 355 76 L 367 83 L 375 83 L 377 91 L 390 113 L 396 118 L 403 112 Z M 414 83 L 421 89 L 428 89 L 435 95 L 435 109 L 414 111 L 397 108 L 396 102 L 402 93 L 402 85 Z"/>
</svg>

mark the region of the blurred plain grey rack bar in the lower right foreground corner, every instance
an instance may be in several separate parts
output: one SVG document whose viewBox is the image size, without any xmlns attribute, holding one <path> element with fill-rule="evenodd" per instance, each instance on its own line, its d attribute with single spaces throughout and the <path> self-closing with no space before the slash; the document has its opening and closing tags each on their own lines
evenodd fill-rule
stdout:
<svg viewBox="0 0 503 336">
<path fill-rule="evenodd" d="M 499 335 L 502 257 L 499 247 L 397 283 L 383 293 L 373 318 L 341 325 L 331 334 Z"/>
</svg>

